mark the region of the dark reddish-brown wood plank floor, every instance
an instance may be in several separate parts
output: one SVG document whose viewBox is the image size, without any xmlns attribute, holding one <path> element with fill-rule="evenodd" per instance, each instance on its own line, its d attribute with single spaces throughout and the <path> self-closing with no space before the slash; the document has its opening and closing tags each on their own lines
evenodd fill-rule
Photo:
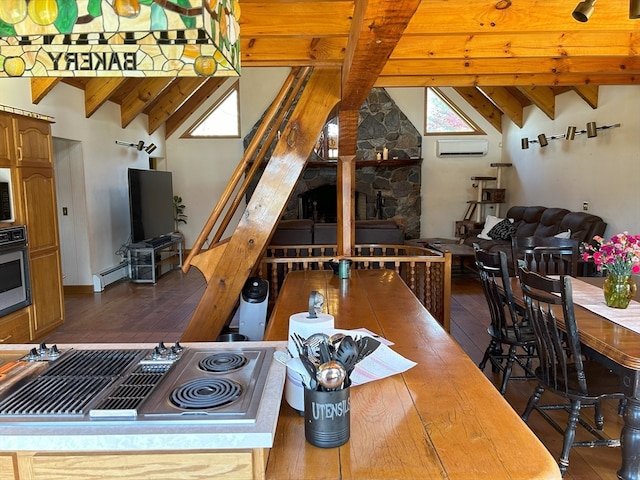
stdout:
<svg viewBox="0 0 640 480">
<path fill-rule="evenodd" d="M 473 276 L 454 277 L 452 283 L 451 334 L 478 363 L 488 343 L 486 302 Z M 186 275 L 180 271 L 171 272 L 156 285 L 122 281 L 107 287 L 101 294 L 68 295 L 65 297 L 65 324 L 44 341 L 48 344 L 157 343 L 161 340 L 173 343 L 180 338 L 203 291 L 204 280 L 196 269 L 192 269 Z M 500 379 L 488 366 L 485 374 L 494 384 L 499 384 Z M 506 398 L 518 413 L 523 411 L 534 386 L 533 381 L 510 382 Z M 617 416 L 617 405 L 607 404 L 604 411 L 605 433 L 618 436 L 622 419 Z M 557 457 L 562 447 L 561 435 L 535 412 L 530 426 Z M 620 458 L 618 448 L 574 448 L 565 478 L 613 480 Z"/>
</svg>

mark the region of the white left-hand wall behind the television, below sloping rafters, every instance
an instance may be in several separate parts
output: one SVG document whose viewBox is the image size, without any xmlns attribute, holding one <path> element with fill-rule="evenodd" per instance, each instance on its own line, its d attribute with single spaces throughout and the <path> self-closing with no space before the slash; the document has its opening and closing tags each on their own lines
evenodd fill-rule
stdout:
<svg viewBox="0 0 640 480">
<path fill-rule="evenodd" d="M 138 115 L 123 129 L 120 107 L 112 102 L 105 103 L 91 118 L 85 118 L 84 92 L 63 83 L 40 104 L 33 105 L 28 78 L 0 81 L 0 104 L 50 115 L 55 118 L 51 126 L 54 137 L 82 143 L 91 264 L 85 266 L 81 278 L 83 285 L 89 285 L 91 273 L 119 263 L 120 257 L 115 252 L 129 239 L 127 169 L 148 166 L 146 153 L 116 145 L 115 141 L 153 142 L 158 145 L 154 155 L 161 156 L 164 129 L 148 135 L 146 115 Z"/>
</svg>

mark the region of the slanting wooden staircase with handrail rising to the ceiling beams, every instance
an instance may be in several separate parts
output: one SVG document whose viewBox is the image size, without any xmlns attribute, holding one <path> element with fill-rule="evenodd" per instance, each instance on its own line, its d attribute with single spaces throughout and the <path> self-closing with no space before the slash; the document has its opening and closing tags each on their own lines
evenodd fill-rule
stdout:
<svg viewBox="0 0 640 480">
<path fill-rule="evenodd" d="M 294 100 L 297 103 L 289 112 Z M 183 271 L 194 265 L 207 286 L 182 341 L 215 340 L 222 331 L 275 231 L 327 117 L 339 101 L 339 68 L 294 69 L 285 81 L 185 260 Z M 276 138 L 278 131 L 282 134 Z M 274 140 L 277 144 L 265 166 L 265 153 Z M 264 171 L 235 231 L 221 240 L 259 167 Z M 213 245 L 202 251 L 216 224 Z"/>
</svg>

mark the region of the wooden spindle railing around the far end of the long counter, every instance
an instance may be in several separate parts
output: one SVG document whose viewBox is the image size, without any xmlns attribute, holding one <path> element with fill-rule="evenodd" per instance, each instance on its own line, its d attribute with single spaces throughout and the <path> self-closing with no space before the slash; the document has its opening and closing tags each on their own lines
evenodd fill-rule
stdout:
<svg viewBox="0 0 640 480">
<path fill-rule="evenodd" d="M 336 245 L 270 245 L 257 275 L 269 281 L 272 307 L 284 277 L 296 270 L 327 270 Z M 349 257 L 354 269 L 395 270 L 420 302 L 448 332 L 451 321 L 451 254 L 407 245 L 356 245 Z"/>
</svg>

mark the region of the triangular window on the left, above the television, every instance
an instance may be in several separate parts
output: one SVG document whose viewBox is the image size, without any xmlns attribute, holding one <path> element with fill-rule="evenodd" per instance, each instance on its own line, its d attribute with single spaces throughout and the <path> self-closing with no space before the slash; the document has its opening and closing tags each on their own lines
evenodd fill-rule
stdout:
<svg viewBox="0 0 640 480">
<path fill-rule="evenodd" d="M 240 137 L 240 95 L 236 82 L 182 138 Z"/>
</svg>

